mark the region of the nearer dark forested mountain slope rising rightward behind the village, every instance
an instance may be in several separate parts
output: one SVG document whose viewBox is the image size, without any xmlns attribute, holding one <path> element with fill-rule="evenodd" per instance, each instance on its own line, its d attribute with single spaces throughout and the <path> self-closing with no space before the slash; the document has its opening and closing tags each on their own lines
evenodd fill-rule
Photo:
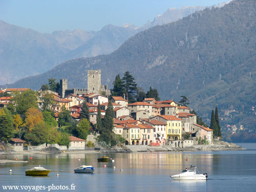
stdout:
<svg viewBox="0 0 256 192">
<path fill-rule="evenodd" d="M 39 89 L 48 78 L 67 78 L 69 88 L 86 88 L 87 70 L 101 69 L 102 84 L 130 71 L 145 91 L 161 99 L 190 99 L 209 116 L 215 106 L 246 112 L 256 105 L 256 3 L 234 0 L 177 22 L 137 33 L 109 55 L 72 59 L 10 87 Z"/>
</svg>

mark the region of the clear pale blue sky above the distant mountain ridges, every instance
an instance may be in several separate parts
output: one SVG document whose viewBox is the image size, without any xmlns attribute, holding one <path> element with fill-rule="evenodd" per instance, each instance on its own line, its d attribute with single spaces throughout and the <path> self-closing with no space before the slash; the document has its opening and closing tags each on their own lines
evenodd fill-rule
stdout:
<svg viewBox="0 0 256 192">
<path fill-rule="evenodd" d="M 142 26 L 170 7 L 222 2 L 225 0 L 0 0 L 0 19 L 42 33 L 67 29 L 98 31 L 107 24 Z"/>
</svg>

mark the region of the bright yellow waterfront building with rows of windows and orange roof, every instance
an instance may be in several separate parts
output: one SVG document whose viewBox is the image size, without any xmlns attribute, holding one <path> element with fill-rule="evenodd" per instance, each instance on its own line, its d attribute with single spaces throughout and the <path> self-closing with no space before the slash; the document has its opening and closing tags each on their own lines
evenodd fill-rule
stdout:
<svg viewBox="0 0 256 192">
<path fill-rule="evenodd" d="M 173 115 L 158 115 L 152 119 L 166 123 L 166 136 L 169 140 L 182 138 L 182 120 Z"/>
</svg>

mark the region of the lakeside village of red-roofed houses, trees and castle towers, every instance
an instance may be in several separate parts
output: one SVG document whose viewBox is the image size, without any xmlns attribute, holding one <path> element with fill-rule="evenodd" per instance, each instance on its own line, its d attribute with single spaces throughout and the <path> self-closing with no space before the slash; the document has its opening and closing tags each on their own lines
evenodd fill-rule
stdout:
<svg viewBox="0 0 256 192">
<path fill-rule="evenodd" d="M 52 85 L 53 83 L 50 84 Z M 7 127 L 7 130 L 14 130 L 12 134 L 2 130 L 1 140 L 8 141 L 17 151 L 22 151 L 28 144 L 42 143 L 58 143 L 67 145 L 69 150 L 83 150 L 86 146 L 96 145 L 91 140 L 89 142 L 88 135 L 94 135 L 99 143 L 111 143 L 111 146 L 120 143 L 184 148 L 200 143 L 211 145 L 214 139 L 219 139 L 214 136 L 214 130 L 203 126 L 202 123 L 200 125 L 197 122 L 197 115 L 191 113 L 182 103 L 172 99 L 156 100 L 148 97 L 131 103 L 127 99 L 127 93 L 112 96 L 108 86 L 101 85 L 100 70 L 88 70 L 87 89 L 68 89 L 68 80 L 60 79 L 60 93 L 48 89 L 37 91 L 37 109 L 28 106 L 25 111 L 19 112 L 19 104 L 25 103 L 19 103 L 23 101 L 18 100 L 17 96 L 21 97 L 29 92 L 33 91 L 29 88 L 6 88 L 0 92 L 2 95 L 9 95 L 0 98 L 0 116 L 12 113 L 13 128 Z M 84 110 L 89 112 L 87 116 L 84 116 Z M 72 126 L 75 128 L 70 128 Z M 42 137 L 41 133 L 37 133 L 44 129 L 42 127 L 51 131 L 45 140 L 36 142 L 36 139 Z M 110 130 L 112 135 L 104 129 Z M 104 135 L 111 135 L 117 139 L 112 142 L 105 139 L 107 137 Z"/>
</svg>

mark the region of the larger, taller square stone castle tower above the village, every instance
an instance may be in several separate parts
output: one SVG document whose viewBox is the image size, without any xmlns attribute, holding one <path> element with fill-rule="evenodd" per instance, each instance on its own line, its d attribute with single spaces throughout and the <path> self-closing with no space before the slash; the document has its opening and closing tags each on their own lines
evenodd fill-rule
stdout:
<svg viewBox="0 0 256 192">
<path fill-rule="evenodd" d="M 87 71 L 87 90 L 89 93 L 100 94 L 101 70 Z"/>
</svg>

